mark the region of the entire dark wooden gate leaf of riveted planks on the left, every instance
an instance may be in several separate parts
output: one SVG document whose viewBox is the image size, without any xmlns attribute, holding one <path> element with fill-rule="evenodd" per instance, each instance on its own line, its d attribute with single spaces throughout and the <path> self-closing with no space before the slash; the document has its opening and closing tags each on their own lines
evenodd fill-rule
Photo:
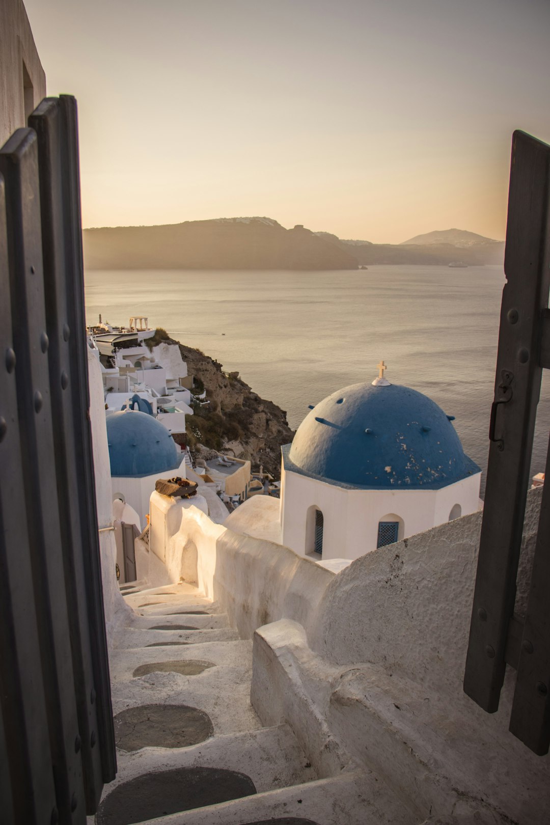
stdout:
<svg viewBox="0 0 550 825">
<path fill-rule="evenodd" d="M 85 823 L 116 762 L 76 101 L 46 99 L 30 124 L 0 150 L 1 733 L 12 821 Z"/>
</svg>

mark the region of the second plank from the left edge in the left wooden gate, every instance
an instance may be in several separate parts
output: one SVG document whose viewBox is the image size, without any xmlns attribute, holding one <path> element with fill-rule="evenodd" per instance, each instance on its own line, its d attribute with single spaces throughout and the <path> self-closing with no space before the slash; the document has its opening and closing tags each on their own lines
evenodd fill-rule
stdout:
<svg viewBox="0 0 550 825">
<path fill-rule="evenodd" d="M 36 135 L 16 130 L 0 151 L 6 181 L 9 283 L 16 394 L 32 582 L 38 617 L 40 667 L 48 714 L 49 747 L 60 823 L 84 823 L 86 804 L 78 748 L 78 714 L 59 502 L 54 477 L 54 436 L 49 393 L 40 195 Z M 35 667 L 39 667 L 38 662 Z"/>
</svg>

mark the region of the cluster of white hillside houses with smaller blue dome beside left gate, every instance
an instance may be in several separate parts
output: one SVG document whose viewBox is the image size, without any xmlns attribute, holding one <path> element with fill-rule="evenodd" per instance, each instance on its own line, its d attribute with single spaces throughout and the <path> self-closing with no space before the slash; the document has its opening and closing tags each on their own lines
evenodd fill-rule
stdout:
<svg viewBox="0 0 550 825">
<path fill-rule="evenodd" d="M 99 323 L 87 330 L 88 348 L 103 384 L 112 495 L 120 516 L 115 533 L 122 581 L 126 565 L 120 523 L 133 524 L 137 534 L 147 526 L 157 479 L 192 479 L 231 506 L 244 501 L 251 488 L 250 461 L 219 456 L 193 469 L 186 416 L 193 415 L 192 401 L 208 402 L 204 391 L 191 394 L 193 376 L 180 348 L 151 342 L 154 332 L 145 316 L 130 318 L 127 327 L 103 323 L 100 316 Z M 221 503 L 210 501 L 218 507 L 218 518 L 228 515 Z"/>
</svg>

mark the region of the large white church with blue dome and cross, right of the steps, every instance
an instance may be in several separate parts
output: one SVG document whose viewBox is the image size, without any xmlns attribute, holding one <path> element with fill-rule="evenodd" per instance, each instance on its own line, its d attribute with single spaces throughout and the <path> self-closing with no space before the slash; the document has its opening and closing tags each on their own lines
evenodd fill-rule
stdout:
<svg viewBox="0 0 550 825">
<path fill-rule="evenodd" d="M 481 507 L 454 417 L 385 369 L 324 398 L 283 447 L 281 540 L 299 554 L 357 559 Z"/>
</svg>

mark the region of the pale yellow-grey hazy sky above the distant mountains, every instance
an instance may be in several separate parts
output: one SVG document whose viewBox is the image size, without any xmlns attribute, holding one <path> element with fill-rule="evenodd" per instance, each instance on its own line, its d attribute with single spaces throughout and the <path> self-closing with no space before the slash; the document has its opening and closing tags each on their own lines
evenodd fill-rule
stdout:
<svg viewBox="0 0 550 825">
<path fill-rule="evenodd" d="M 512 132 L 550 142 L 550 0 L 24 2 L 85 227 L 502 239 Z"/>
</svg>

